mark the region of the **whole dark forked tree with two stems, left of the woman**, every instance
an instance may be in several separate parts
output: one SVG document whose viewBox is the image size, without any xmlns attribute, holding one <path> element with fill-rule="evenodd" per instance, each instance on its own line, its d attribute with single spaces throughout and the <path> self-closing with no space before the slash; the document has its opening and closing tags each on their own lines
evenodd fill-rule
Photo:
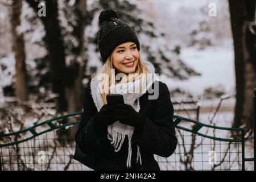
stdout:
<svg viewBox="0 0 256 182">
<path fill-rule="evenodd" d="M 27 0 L 30 6 L 38 11 L 39 2 Z M 67 3 L 64 1 L 64 3 Z M 75 23 L 71 23 L 73 38 L 78 42 L 78 46 L 72 47 L 71 55 L 73 60 L 71 64 L 65 63 L 65 45 L 61 35 L 60 20 L 58 19 L 57 0 L 46 1 L 46 17 L 41 17 L 46 30 L 46 44 L 49 52 L 49 61 L 51 63 L 51 79 L 53 92 L 59 94 L 60 110 L 73 113 L 82 109 L 82 72 L 86 65 L 84 32 L 86 26 L 86 0 L 76 0 L 75 8 L 72 13 L 75 14 Z M 71 46 L 71 45 L 69 45 Z"/>
</svg>

